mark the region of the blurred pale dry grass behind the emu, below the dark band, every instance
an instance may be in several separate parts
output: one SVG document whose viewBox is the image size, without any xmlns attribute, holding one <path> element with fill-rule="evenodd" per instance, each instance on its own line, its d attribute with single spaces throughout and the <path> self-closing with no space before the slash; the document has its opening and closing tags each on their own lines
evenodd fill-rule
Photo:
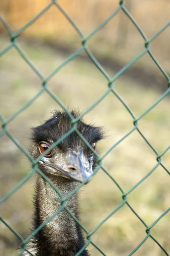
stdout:
<svg viewBox="0 0 170 256">
<path fill-rule="evenodd" d="M 1 38 L 0 49 L 8 44 Z M 23 49 L 37 68 L 47 76 L 66 56 L 43 47 Z M 110 70 L 107 70 L 108 72 Z M 29 101 L 41 88 L 36 74 L 12 49 L 0 59 L 1 96 L 0 109 L 8 118 L 23 104 Z M 89 62 L 79 58 L 63 67 L 50 81 L 49 87 L 70 107 L 85 110 L 106 90 L 107 81 L 99 70 Z M 155 88 L 143 88 L 133 80 L 120 77 L 115 88 L 127 102 L 136 116 L 153 104 L 161 93 Z M 170 99 L 164 99 L 150 113 L 139 121 L 139 128 L 158 152 L 169 145 Z M 27 146 L 29 128 L 49 118 L 58 104 L 44 93 L 29 108 L 9 124 L 9 131 Z M 110 93 L 98 106 L 85 116 L 86 121 L 103 125 L 108 137 L 99 144 L 101 154 L 123 137 L 133 127 L 133 120 L 119 100 Z M 170 151 L 163 157 L 164 165 L 170 167 Z M 28 160 L 7 136 L 0 138 L 0 196 L 9 192 L 31 170 Z M 157 163 L 156 155 L 137 131 L 114 148 L 104 159 L 104 166 L 115 180 L 127 191 L 146 175 Z M 24 238 L 29 233 L 32 215 L 33 179 L 24 184 L 17 192 L 1 205 L 1 215 Z M 148 224 L 152 224 L 170 205 L 170 177 L 158 167 L 147 180 L 141 183 L 130 195 L 128 202 Z M 121 192 L 100 171 L 81 191 L 81 218 L 85 227 L 91 231 L 104 218 L 121 204 Z M 170 214 L 164 216 L 152 229 L 152 234 L 170 253 Z M 109 218 L 92 236 L 107 256 L 127 256 L 146 236 L 145 227 L 125 205 Z M 0 224 L 0 251 L 3 256 L 17 255 L 18 241 L 8 228 Z M 92 256 L 100 253 L 89 247 Z M 160 248 L 152 239 L 147 241 L 134 254 L 136 256 L 163 256 Z"/>
</svg>

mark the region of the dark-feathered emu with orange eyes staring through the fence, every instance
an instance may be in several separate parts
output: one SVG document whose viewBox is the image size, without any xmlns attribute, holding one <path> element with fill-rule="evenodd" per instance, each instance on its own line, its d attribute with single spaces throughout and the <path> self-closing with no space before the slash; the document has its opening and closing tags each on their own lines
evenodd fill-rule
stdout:
<svg viewBox="0 0 170 256">
<path fill-rule="evenodd" d="M 76 111 L 71 113 L 74 117 L 79 115 Z M 32 128 L 30 153 L 36 159 L 71 128 L 69 116 L 63 111 L 55 111 L 52 118 L 44 124 Z M 82 119 L 77 122 L 77 129 L 94 149 L 96 143 L 103 138 L 101 127 L 88 125 Z M 38 162 L 38 168 L 65 197 L 80 182 L 91 176 L 96 162 L 95 154 L 74 131 L 42 157 Z M 61 207 L 60 198 L 52 186 L 40 175 L 35 176 L 32 230 Z M 79 219 L 77 201 L 78 192 L 66 201 L 66 207 Z M 29 241 L 27 248 L 35 256 L 75 256 L 84 244 L 81 228 L 63 209 Z M 23 253 L 23 256 L 29 255 L 26 251 Z M 81 256 L 89 256 L 88 251 L 84 249 Z"/>
</svg>

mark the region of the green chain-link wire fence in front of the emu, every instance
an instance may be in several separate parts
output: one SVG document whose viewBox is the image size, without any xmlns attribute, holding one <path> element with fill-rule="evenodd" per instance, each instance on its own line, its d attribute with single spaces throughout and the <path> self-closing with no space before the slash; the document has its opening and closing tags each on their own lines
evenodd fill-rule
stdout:
<svg viewBox="0 0 170 256">
<path fill-rule="evenodd" d="M 78 49 L 76 52 L 74 52 L 72 55 L 70 55 L 68 58 L 66 58 L 65 61 L 63 61 L 63 63 L 61 63 L 58 67 L 55 68 L 55 70 L 53 70 L 52 73 L 49 74 L 49 76 L 44 77 L 40 71 L 35 67 L 35 65 L 32 63 L 32 61 L 28 58 L 28 56 L 26 55 L 26 53 L 23 51 L 23 49 L 21 49 L 21 47 L 19 46 L 19 44 L 17 43 L 17 37 L 24 31 L 26 30 L 29 26 L 31 26 L 38 18 L 40 18 L 48 9 L 50 9 L 52 6 L 55 6 L 56 8 L 58 8 L 63 15 L 67 18 L 67 20 L 69 20 L 69 23 L 71 23 L 71 25 L 73 26 L 73 28 L 76 30 L 76 32 L 78 33 L 78 35 L 80 36 L 80 40 L 81 40 L 81 44 L 82 47 L 80 49 Z M 133 23 L 133 25 L 136 27 L 136 29 L 138 30 L 138 32 L 141 34 L 141 37 L 144 40 L 144 51 L 142 51 L 139 55 L 137 55 L 132 61 L 130 61 L 127 65 L 125 65 L 114 77 L 110 77 L 107 72 L 104 70 L 104 68 L 98 63 L 98 61 L 96 60 L 96 58 L 94 57 L 94 55 L 92 54 L 92 52 L 90 52 L 90 50 L 87 47 L 87 42 L 89 40 L 89 38 L 91 38 L 96 32 L 98 32 L 98 30 L 100 30 L 103 26 L 105 26 L 109 20 L 112 19 L 112 17 L 114 17 L 115 15 L 118 14 L 118 12 L 123 11 L 125 15 L 127 15 L 127 17 L 131 20 L 131 22 Z M 52 218 L 55 217 L 55 215 L 57 215 L 59 212 L 61 212 L 63 209 L 65 209 L 69 215 L 72 216 L 72 218 L 81 226 L 81 228 L 84 230 L 84 232 L 86 233 L 86 239 L 87 242 L 84 245 L 84 247 L 82 247 L 82 249 L 76 254 L 76 256 L 80 255 L 81 252 L 84 250 L 84 248 L 86 248 L 90 243 L 99 251 L 100 254 L 106 256 L 106 254 L 92 241 L 91 236 L 96 232 L 96 230 L 98 230 L 99 227 L 101 227 L 102 224 L 104 224 L 105 221 L 107 221 L 108 218 L 110 218 L 112 215 L 114 215 L 115 212 L 117 212 L 121 207 L 123 207 L 125 204 L 127 204 L 127 206 L 131 209 L 131 211 L 136 215 L 136 217 L 141 221 L 141 223 L 144 225 L 145 227 L 145 231 L 146 231 L 146 236 L 145 238 L 138 244 L 138 246 L 136 246 L 134 248 L 134 250 L 129 254 L 133 255 L 138 249 L 139 247 L 141 247 L 142 244 L 144 244 L 144 242 L 150 237 L 153 239 L 153 241 L 156 242 L 156 244 L 158 244 L 158 246 L 161 248 L 162 253 L 164 252 L 165 255 L 168 256 L 167 251 L 161 246 L 161 244 L 159 243 L 159 241 L 157 241 L 151 234 L 151 229 L 153 226 L 155 226 L 158 221 L 164 217 L 164 215 L 167 214 L 167 212 L 170 211 L 170 208 L 168 208 L 165 212 L 163 212 L 150 226 L 148 226 L 143 219 L 135 212 L 135 210 L 133 209 L 133 207 L 131 207 L 131 205 L 128 203 L 127 201 L 127 195 L 130 194 L 139 184 L 141 184 L 145 179 L 147 179 L 147 177 L 153 173 L 158 166 L 162 166 L 163 169 L 170 175 L 170 171 L 166 168 L 166 166 L 164 166 L 164 164 L 162 163 L 161 157 L 170 149 L 170 145 L 164 149 L 163 152 L 158 152 L 156 151 L 156 149 L 153 147 L 153 145 L 150 144 L 150 142 L 147 140 L 147 138 L 144 136 L 144 134 L 141 132 L 140 128 L 138 127 L 138 120 L 140 120 L 144 115 L 146 115 L 149 111 L 151 111 L 159 102 L 161 102 L 161 100 L 163 100 L 168 93 L 170 93 L 170 77 L 167 75 L 167 73 L 164 71 L 164 69 L 161 67 L 161 65 L 158 63 L 158 61 L 156 60 L 155 56 L 153 55 L 153 53 L 150 50 L 150 43 L 158 36 L 161 34 L 161 32 L 164 31 L 164 29 L 166 29 L 169 25 L 170 22 L 167 23 L 163 28 L 161 28 L 155 35 L 153 35 L 152 38 L 147 38 L 146 35 L 144 34 L 144 32 L 141 30 L 140 26 L 138 25 L 138 23 L 135 21 L 135 19 L 130 15 L 130 13 L 128 12 L 128 10 L 125 8 L 124 6 L 124 0 L 121 0 L 119 3 L 119 6 L 117 9 L 115 9 L 115 11 L 109 16 L 107 17 L 106 20 L 104 20 L 98 27 L 96 27 L 91 33 L 89 33 L 89 35 L 84 36 L 83 33 L 81 32 L 81 30 L 78 28 L 78 26 L 75 24 L 75 22 L 72 20 L 72 18 L 65 12 L 65 10 L 62 8 L 62 6 L 56 2 L 56 0 L 52 0 L 52 2 L 46 6 L 39 14 L 37 14 L 32 20 L 30 20 L 28 23 L 26 23 L 25 26 L 23 26 L 21 29 L 19 29 L 17 32 L 13 32 L 13 30 L 11 29 L 11 27 L 8 25 L 8 23 L 6 22 L 6 20 L 3 19 L 3 17 L 0 16 L 0 21 L 3 23 L 3 26 L 6 28 L 6 30 L 8 31 L 10 38 L 11 38 L 11 43 L 9 44 L 8 47 L 4 48 L 1 52 L 0 52 L 0 56 L 4 55 L 6 52 L 8 52 L 10 49 L 12 49 L 13 47 L 17 50 L 17 52 L 21 55 L 21 57 L 26 61 L 26 63 L 32 68 L 32 70 L 34 70 L 34 72 L 37 74 L 37 76 L 40 78 L 41 82 L 42 82 L 42 88 L 41 90 L 37 93 L 37 95 L 35 95 L 31 100 L 29 100 L 29 102 L 27 102 L 25 105 L 23 105 L 22 108 L 20 108 L 17 112 L 13 113 L 12 116 L 10 116 L 8 119 L 4 119 L 3 116 L 0 115 L 0 120 L 2 122 L 2 130 L 0 131 L 0 137 L 3 134 L 6 134 L 13 142 L 15 145 L 17 145 L 17 147 L 23 151 L 26 156 L 29 158 L 29 160 L 32 162 L 32 172 L 30 172 L 26 177 L 24 177 L 23 180 L 20 181 L 20 183 L 17 184 L 17 186 L 15 186 L 9 193 L 7 193 L 3 198 L 0 199 L 0 203 L 3 203 L 4 201 L 6 201 L 7 198 L 9 198 L 17 189 L 19 189 L 27 180 L 29 180 L 30 177 L 32 177 L 32 175 L 35 172 L 38 172 L 44 179 L 46 179 L 50 185 L 53 187 L 53 189 L 55 189 L 55 191 L 58 193 L 58 195 L 61 198 L 61 208 L 58 209 L 57 212 L 55 212 L 55 214 L 53 214 L 50 218 L 48 218 L 43 224 L 41 224 L 34 232 L 32 232 L 32 234 L 27 238 L 27 239 L 23 239 L 22 236 L 20 236 L 19 233 L 17 233 L 16 230 L 14 230 L 2 217 L 0 217 L 0 220 L 3 222 L 3 224 L 5 224 L 14 234 L 15 236 L 17 236 L 18 239 L 20 239 L 21 242 L 21 247 L 22 250 L 19 253 L 19 256 L 22 255 L 22 253 L 24 251 L 29 252 L 29 250 L 26 247 L 27 242 L 33 237 L 35 236 L 35 234 L 42 229 L 47 222 L 49 222 Z M 48 87 L 48 81 L 62 68 L 64 67 L 69 61 L 72 61 L 73 58 L 75 58 L 80 52 L 85 51 L 86 54 L 89 56 L 90 60 L 93 62 L 93 64 L 95 64 L 95 66 L 101 71 L 101 73 L 105 76 L 105 78 L 107 79 L 107 87 L 106 87 L 106 92 L 101 96 L 101 98 L 99 98 L 96 102 L 94 102 L 93 105 L 91 105 L 86 111 L 84 111 L 84 113 L 82 113 L 80 116 L 78 116 L 77 118 L 74 118 L 68 111 L 68 109 L 66 108 L 66 106 L 61 102 L 61 100 L 49 89 Z M 139 58 L 141 58 L 143 55 L 145 54 L 149 54 L 150 57 L 152 58 L 152 60 L 155 62 L 155 64 L 157 65 L 157 67 L 161 70 L 161 73 L 165 76 L 165 78 L 167 79 L 167 90 L 161 95 L 161 97 L 153 104 L 150 106 L 150 108 L 148 108 L 146 111 L 144 111 L 140 116 L 135 116 L 133 111 L 128 107 L 128 105 L 126 104 L 126 102 L 124 101 L 124 99 L 121 98 L 121 96 L 118 94 L 118 92 L 115 90 L 114 88 L 114 81 L 116 79 L 118 79 L 118 77 L 120 77 L 125 70 L 127 70 L 131 65 L 133 65 L 135 63 L 135 61 L 137 61 Z M 93 153 L 97 156 L 97 161 L 98 161 L 98 167 L 95 169 L 93 175 L 95 175 L 96 172 L 98 172 L 99 169 L 102 169 L 108 176 L 109 178 L 115 183 L 115 185 L 118 187 L 118 189 L 120 189 L 121 193 L 122 193 L 122 203 L 116 208 L 114 209 L 108 216 L 107 218 L 105 218 L 103 221 L 101 221 L 100 224 L 98 224 L 97 227 L 95 227 L 94 230 L 92 230 L 91 232 L 88 232 L 88 230 L 86 230 L 86 228 L 81 224 L 80 221 L 78 221 L 78 219 L 72 214 L 72 212 L 69 211 L 69 209 L 67 209 L 66 207 L 66 200 L 73 195 L 78 189 L 81 188 L 81 186 L 84 185 L 84 183 L 86 183 L 86 180 L 81 183 L 76 189 L 74 189 L 69 195 L 67 195 L 65 198 L 62 197 L 62 195 L 60 194 L 60 192 L 58 191 L 58 189 L 53 185 L 53 183 L 46 177 L 46 175 L 44 175 L 38 168 L 37 168 L 37 163 L 38 161 L 43 157 L 43 155 L 41 155 L 40 157 L 38 157 L 36 160 L 34 160 L 31 155 L 29 154 L 29 152 L 13 137 L 13 135 L 8 131 L 8 124 L 9 122 L 11 122 L 16 116 L 18 116 L 22 111 L 24 111 L 26 108 L 29 107 L 29 105 L 31 105 L 44 91 L 46 91 L 47 93 L 49 93 L 49 95 L 55 99 L 56 102 L 58 102 L 58 104 L 61 106 L 61 108 L 63 108 L 64 111 L 66 111 L 66 113 L 69 115 L 71 121 L 72 121 L 72 128 L 70 131 L 68 131 L 66 134 L 63 135 L 63 137 L 61 137 L 58 141 L 56 141 L 50 149 L 54 148 L 56 145 L 58 145 L 58 143 L 60 143 L 62 140 L 64 140 L 69 134 L 71 134 L 72 132 L 76 132 L 78 134 L 79 137 L 81 137 L 81 140 L 84 141 L 84 143 L 86 143 L 86 145 L 93 151 Z M 113 93 L 119 100 L 120 102 L 124 105 L 124 107 L 127 109 L 127 111 L 130 113 L 130 115 L 133 118 L 133 125 L 134 127 L 124 136 L 122 137 L 117 143 L 115 143 L 114 145 L 112 145 L 111 148 L 109 148 L 109 150 L 101 157 L 98 156 L 98 154 L 93 150 L 93 148 L 89 145 L 89 143 L 84 139 L 84 137 L 80 134 L 80 132 L 77 130 L 76 128 L 76 123 L 78 122 L 79 119 L 81 119 L 84 115 L 86 115 L 86 113 L 88 113 L 89 111 L 91 111 L 99 102 L 102 101 L 102 99 L 104 99 L 109 93 Z M 104 159 L 104 157 L 107 156 L 107 154 L 109 154 L 110 151 L 112 151 L 113 148 L 115 148 L 119 143 L 121 143 L 122 140 L 124 140 L 126 137 L 128 137 L 130 134 L 132 134 L 135 130 L 138 131 L 138 133 L 141 135 L 141 137 L 145 140 L 145 142 L 150 146 L 150 148 L 153 150 L 153 152 L 155 153 L 155 157 L 157 160 L 157 164 L 153 167 L 153 169 L 150 170 L 150 172 L 147 173 L 147 175 L 145 175 L 138 183 L 136 183 L 131 189 L 129 189 L 128 191 L 124 191 L 121 186 L 117 183 L 117 181 L 109 174 L 109 172 L 102 166 L 102 160 Z M 30 255 L 33 256 L 33 254 L 31 252 L 29 252 Z"/>
</svg>

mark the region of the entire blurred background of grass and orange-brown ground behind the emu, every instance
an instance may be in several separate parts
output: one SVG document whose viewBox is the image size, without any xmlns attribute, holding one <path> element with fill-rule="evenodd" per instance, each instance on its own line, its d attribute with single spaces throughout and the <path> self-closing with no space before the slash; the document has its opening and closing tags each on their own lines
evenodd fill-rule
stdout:
<svg viewBox="0 0 170 256">
<path fill-rule="evenodd" d="M 5 0 L 0 12 L 9 26 L 18 31 L 35 17 L 50 0 Z M 65 12 L 75 21 L 84 35 L 88 35 L 118 8 L 118 0 L 60 0 Z M 168 0 L 127 0 L 125 6 L 151 38 L 170 17 Z M 58 65 L 81 47 L 78 33 L 56 7 L 52 6 L 17 39 L 37 69 L 48 76 Z M 0 51 L 10 43 L 10 37 L 0 23 Z M 144 50 L 144 40 L 130 19 L 120 11 L 88 41 L 88 47 L 109 76 L 114 76 Z M 170 74 L 170 27 L 151 43 L 151 50 L 163 69 Z M 85 52 L 62 67 L 50 79 L 49 88 L 69 108 L 86 110 L 107 90 L 107 80 L 90 61 Z M 0 58 L 0 113 L 7 119 L 41 88 L 41 81 L 16 49 L 12 48 Z M 127 102 L 135 116 L 147 110 L 167 89 L 167 80 L 157 65 L 145 54 L 128 68 L 116 81 L 115 89 Z M 9 131 L 26 148 L 29 131 L 48 119 L 59 105 L 47 93 L 43 93 L 32 105 L 9 123 Z M 104 98 L 85 116 L 86 122 L 104 126 L 107 138 L 98 148 L 104 154 L 131 128 L 133 119 L 113 93 Z M 164 98 L 139 122 L 140 130 L 161 153 L 170 145 L 170 97 Z M 162 157 L 170 169 L 170 150 Z M 134 131 L 116 146 L 104 159 L 104 167 L 127 191 L 156 165 L 156 155 L 141 135 Z M 26 156 L 3 135 L 0 138 L 0 197 L 6 195 L 31 171 Z M 0 215 L 23 238 L 29 234 L 32 218 L 32 177 L 0 206 Z M 128 196 L 129 204 L 140 217 L 151 225 L 170 207 L 170 177 L 159 166 Z M 81 189 L 81 219 L 92 231 L 119 204 L 121 192 L 112 180 L 100 170 L 93 180 Z M 167 213 L 151 230 L 152 235 L 170 253 L 170 213 Z M 94 241 L 107 256 L 127 256 L 146 236 L 145 227 L 124 205 L 92 235 Z M 0 255 L 16 256 L 20 241 L 0 223 Z M 92 256 L 101 255 L 89 246 Z M 163 251 L 152 240 L 135 252 L 135 256 L 163 256 Z"/>
</svg>

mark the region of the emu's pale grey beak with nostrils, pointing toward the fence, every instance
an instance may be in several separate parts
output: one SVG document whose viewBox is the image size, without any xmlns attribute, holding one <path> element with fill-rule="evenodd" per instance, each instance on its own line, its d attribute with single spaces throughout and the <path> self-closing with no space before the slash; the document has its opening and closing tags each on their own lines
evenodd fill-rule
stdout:
<svg viewBox="0 0 170 256">
<path fill-rule="evenodd" d="M 75 153 L 74 151 L 69 150 L 66 157 L 66 165 L 67 171 L 64 170 L 64 173 L 69 177 L 80 182 L 89 178 L 86 183 L 91 180 L 92 177 L 90 176 L 93 173 L 92 166 L 89 165 L 89 162 L 84 157 L 83 151 Z"/>
</svg>

